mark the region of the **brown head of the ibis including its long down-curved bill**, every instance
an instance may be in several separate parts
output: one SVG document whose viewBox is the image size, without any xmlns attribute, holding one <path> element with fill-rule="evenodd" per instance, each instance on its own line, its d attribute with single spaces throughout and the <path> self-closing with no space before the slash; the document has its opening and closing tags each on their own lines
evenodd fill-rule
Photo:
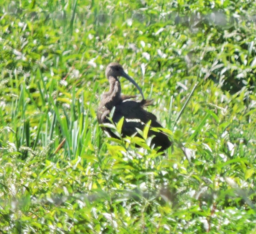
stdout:
<svg viewBox="0 0 256 234">
<path fill-rule="evenodd" d="M 124 72 L 124 68 L 119 63 L 116 63 L 116 62 L 110 63 L 106 68 L 105 75 L 108 79 L 110 76 L 114 77 L 115 79 L 117 79 L 118 76 L 124 77 L 125 79 L 132 82 L 136 86 L 136 88 L 139 90 L 140 94 L 144 99 L 144 95 L 139 85 L 135 82 L 135 80 L 132 79 L 132 77 L 130 77 L 128 74 Z"/>
</svg>

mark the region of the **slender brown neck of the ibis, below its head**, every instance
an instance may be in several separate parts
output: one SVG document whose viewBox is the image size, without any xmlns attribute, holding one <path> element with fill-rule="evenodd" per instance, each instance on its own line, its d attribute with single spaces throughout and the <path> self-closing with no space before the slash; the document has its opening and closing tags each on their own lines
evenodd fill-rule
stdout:
<svg viewBox="0 0 256 234">
<path fill-rule="evenodd" d="M 108 109 L 112 109 L 113 106 L 115 106 L 120 101 L 122 101 L 121 86 L 117 78 L 110 76 L 108 79 L 109 79 L 110 87 L 109 87 L 109 91 L 105 94 L 106 95 L 105 97 L 107 97 L 107 103 L 105 104 L 105 106 Z"/>
</svg>

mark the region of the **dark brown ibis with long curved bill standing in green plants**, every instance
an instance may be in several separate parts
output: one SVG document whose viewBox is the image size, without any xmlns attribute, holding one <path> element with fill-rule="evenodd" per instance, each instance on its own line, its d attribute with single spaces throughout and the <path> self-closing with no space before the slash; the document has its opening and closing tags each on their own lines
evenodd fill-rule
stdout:
<svg viewBox="0 0 256 234">
<path fill-rule="evenodd" d="M 121 129 L 121 136 L 133 136 L 137 133 L 137 129 L 143 130 L 145 125 L 151 120 L 150 127 L 162 128 L 162 125 L 157 121 L 157 118 L 151 112 L 143 109 L 148 105 L 152 105 L 153 100 L 145 100 L 143 92 L 139 85 L 124 72 L 123 67 L 117 62 L 111 62 L 106 70 L 105 76 L 109 81 L 109 91 L 105 92 L 101 96 L 101 101 L 97 109 L 97 120 L 99 124 L 111 123 L 109 120 L 110 112 L 113 108 L 112 121 L 117 124 L 119 120 L 124 117 L 123 126 Z M 121 95 L 121 85 L 118 77 L 124 77 L 139 90 L 142 100 L 133 101 L 131 98 L 135 95 Z M 111 137 L 119 138 L 111 128 L 102 126 L 103 130 L 106 130 Z M 139 134 L 137 134 L 140 137 Z M 168 139 L 165 133 L 162 131 L 153 131 L 151 128 L 148 131 L 148 136 L 155 136 L 151 140 L 151 146 L 157 148 L 158 152 L 163 152 L 172 145 L 172 142 Z"/>
</svg>

